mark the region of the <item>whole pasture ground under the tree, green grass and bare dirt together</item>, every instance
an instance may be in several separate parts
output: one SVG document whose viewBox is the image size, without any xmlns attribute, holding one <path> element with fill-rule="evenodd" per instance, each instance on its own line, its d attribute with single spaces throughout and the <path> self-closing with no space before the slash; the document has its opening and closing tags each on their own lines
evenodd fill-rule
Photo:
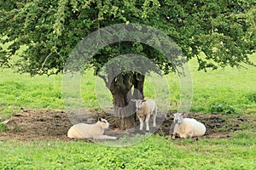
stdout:
<svg viewBox="0 0 256 170">
<path fill-rule="evenodd" d="M 256 54 L 251 56 L 256 62 Z M 123 147 L 67 139 L 71 126 L 61 99 L 61 75 L 29 77 L 12 70 L 0 72 L 0 121 L 9 117 L 20 128 L 0 127 L 1 169 L 256 169 L 256 68 L 196 71 L 189 116 L 207 123 L 207 135 L 198 139 L 172 140 L 167 130 L 154 135 L 137 134 L 142 140 Z M 179 79 L 165 76 L 170 89 L 170 112 L 163 127 L 170 128 L 172 112 L 180 100 Z M 96 98 L 96 77 L 86 71 L 81 81 L 84 107 L 104 116 Z M 145 82 L 146 98 L 153 98 Z M 168 126 L 169 124 L 169 126 Z M 108 142 L 108 141 L 107 141 Z"/>
</svg>

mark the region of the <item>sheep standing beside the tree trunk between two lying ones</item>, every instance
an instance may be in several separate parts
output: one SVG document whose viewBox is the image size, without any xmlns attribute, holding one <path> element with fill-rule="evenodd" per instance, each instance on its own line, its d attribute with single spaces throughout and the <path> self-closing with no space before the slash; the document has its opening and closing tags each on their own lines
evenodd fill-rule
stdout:
<svg viewBox="0 0 256 170">
<path fill-rule="evenodd" d="M 153 127 L 155 127 L 155 117 L 157 114 L 157 106 L 153 99 L 131 99 L 132 102 L 136 103 L 137 117 L 140 121 L 140 130 L 143 130 L 143 121 L 145 117 L 146 131 L 149 131 L 149 117 L 153 115 Z"/>
</svg>

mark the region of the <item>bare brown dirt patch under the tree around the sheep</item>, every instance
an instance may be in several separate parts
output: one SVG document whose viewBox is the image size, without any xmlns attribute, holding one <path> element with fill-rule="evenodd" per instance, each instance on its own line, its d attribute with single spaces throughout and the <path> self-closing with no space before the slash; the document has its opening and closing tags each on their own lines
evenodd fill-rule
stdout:
<svg viewBox="0 0 256 170">
<path fill-rule="evenodd" d="M 58 110 L 21 109 L 20 113 L 10 117 L 10 120 L 14 120 L 18 128 L 9 130 L 8 132 L 0 132 L 0 139 L 69 141 L 72 139 L 67 138 L 67 131 L 73 123 L 94 123 L 99 116 L 106 118 L 112 125 L 110 126 L 110 129 L 106 131 L 108 135 L 121 137 L 125 134 L 131 135 L 131 133 L 141 133 L 138 131 L 138 126 L 133 132 L 119 133 L 119 131 L 113 127 L 113 116 L 101 111 L 67 113 L 67 111 Z M 189 117 L 196 118 L 206 125 L 207 133 L 202 137 L 206 139 L 229 138 L 231 132 L 241 130 L 246 127 L 246 125 L 250 125 L 251 122 L 255 121 L 251 120 L 252 118 L 241 116 L 230 117 L 199 113 L 190 113 Z M 170 135 L 172 119 L 172 113 L 168 113 L 165 120 L 162 119 L 162 117 L 157 117 L 157 124 L 160 125 L 160 127 L 155 129 L 150 127 L 151 133 L 159 133 L 160 135 L 166 136 Z M 152 125 L 152 122 L 150 122 L 149 125 Z"/>
</svg>

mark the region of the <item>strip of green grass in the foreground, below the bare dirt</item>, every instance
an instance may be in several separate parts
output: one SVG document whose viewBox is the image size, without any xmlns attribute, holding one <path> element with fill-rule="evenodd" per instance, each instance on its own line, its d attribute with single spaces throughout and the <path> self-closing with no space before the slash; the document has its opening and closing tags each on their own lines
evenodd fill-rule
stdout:
<svg viewBox="0 0 256 170">
<path fill-rule="evenodd" d="M 245 134 L 243 134 L 245 135 Z M 152 136 L 129 147 L 77 142 L 0 141 L 2 169 L 255 169 L 256 139 L 173 142 Z"/>
</svg>

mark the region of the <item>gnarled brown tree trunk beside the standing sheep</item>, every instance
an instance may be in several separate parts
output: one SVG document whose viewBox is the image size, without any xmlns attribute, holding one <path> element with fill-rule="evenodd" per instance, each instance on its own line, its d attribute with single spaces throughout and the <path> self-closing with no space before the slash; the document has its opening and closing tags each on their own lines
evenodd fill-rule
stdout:
<svg viewBox="0 0 256 170">
<path fill-rule="evenodd" d="M 120 130 L 131 129 L 137 125 L 136 107 L 131 99 L 143 99 L 143 85 L 145 76 L 139 73 L 119 74 L 111 77 L 108 74 L 107 86 L 113 95 L 113 110 L 115 116 L 115 127 Z M 106 81 L 105 81 L 106 82 Z M 134 86 L 132 94 L 131 88 Z"/>
</svg>

